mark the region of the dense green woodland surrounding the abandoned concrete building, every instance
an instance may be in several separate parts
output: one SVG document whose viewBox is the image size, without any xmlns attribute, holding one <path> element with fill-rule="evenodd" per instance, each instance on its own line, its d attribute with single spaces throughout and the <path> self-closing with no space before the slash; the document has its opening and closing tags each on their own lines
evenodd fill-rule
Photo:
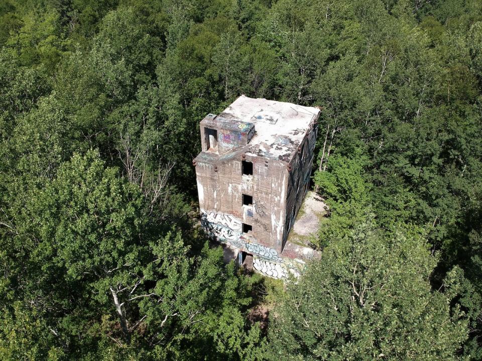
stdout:
<svg viewBox="0 0 482 361">
<path fill-rule="evenodd" d="M 482 360 L 479 0 L 2 0 L 0 49 L 0 359 Z M 196 226 L 240 94 L 321 109 L 286 286 Z"/>
</svg>

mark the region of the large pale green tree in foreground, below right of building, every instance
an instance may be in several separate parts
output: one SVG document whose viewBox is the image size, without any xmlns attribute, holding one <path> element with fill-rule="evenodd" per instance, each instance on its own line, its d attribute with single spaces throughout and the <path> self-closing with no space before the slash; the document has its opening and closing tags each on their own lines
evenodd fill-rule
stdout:
<svg viewBox="0 0 482 361">
<path fill-rule="evenodd" d="M 271 358 L 458 359 L 467 329 L 449 306 L 457 282 L 432 291 L 436 258 L 416 230 L 402 231 L 384 237 L 369 221 L 331 242 L 275 310 Z"/>
</svg>

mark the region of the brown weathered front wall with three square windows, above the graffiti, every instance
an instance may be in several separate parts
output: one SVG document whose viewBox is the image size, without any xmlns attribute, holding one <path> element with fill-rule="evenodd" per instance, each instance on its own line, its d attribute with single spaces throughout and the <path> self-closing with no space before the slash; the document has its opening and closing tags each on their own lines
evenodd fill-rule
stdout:
<svg viewBox="0 0 482 361">
<path fill-rule="evenodd" d="M 232 216 L 239 223 L 251 225 L 252 232 L 244 234 L 244 238 L 281 253 L 288 188 L 286 164 L 242 156 L 225 160 L 213 156 L 212 163 L 209 159 L 196 163 L 200 207 L 205 212 Z M 242 160 L 253 162 L 253 175 L 242 174 Z M 243 194 L 253 197 L 252 206 L 243 205 Z"/>
</svg>

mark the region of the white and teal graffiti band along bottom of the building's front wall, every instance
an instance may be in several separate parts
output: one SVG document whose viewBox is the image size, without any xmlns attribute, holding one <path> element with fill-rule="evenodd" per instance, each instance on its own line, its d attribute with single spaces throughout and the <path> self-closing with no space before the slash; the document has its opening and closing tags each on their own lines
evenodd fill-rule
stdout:
<svg viewBox="0 0 482 361">
<path fill-rule="evenodd" d="M 228 243 L 263 259 L 283 262 L 276 250 L 242 239 L 242 222 L 233 215 L 207 212 L 201 208 L 201 225 L 209 236 L 219 242 Z"/>
</svg>

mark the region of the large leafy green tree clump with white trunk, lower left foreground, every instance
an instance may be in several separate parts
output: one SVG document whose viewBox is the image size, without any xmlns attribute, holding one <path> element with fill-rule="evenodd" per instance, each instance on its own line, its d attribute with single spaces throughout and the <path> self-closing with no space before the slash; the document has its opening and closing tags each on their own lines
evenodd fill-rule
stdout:
<svg viewBox="0 0 482 361">
<path fill-rule="evenodd" d="M 247 281 L 223 265 L 221 249 L 206 245 L 196 256 L 179 233 L 157 236 L 143 202 L 138 186 L 94 151 L 75 154 L 33 192 L 2 239 L 6 355 L 30 357 L 11 342 L 13 314 L 43 332 L 29 341 L 34 349 L 85 358 L 106 356 L 106 347 L 125 357 L 142 350 L 146 359 L 236 358 L 258 339 L 256 327 L 244 332 Z M 19 298 L 30 307 L 8 305 Z M 20 330 L 27 321 L 18 316 Z"/>
</svg>

